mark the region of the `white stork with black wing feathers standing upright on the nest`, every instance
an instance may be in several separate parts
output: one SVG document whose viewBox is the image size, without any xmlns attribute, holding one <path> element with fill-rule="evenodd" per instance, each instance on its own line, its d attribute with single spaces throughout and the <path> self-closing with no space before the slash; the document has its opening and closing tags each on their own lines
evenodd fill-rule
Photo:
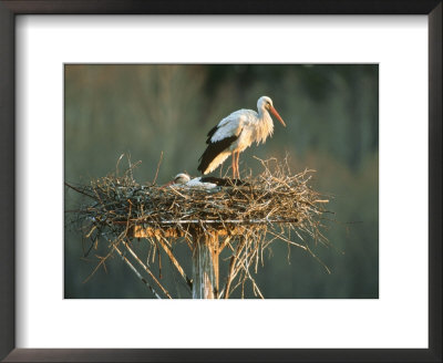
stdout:
<svg viewBox="0 0 443 363">
<path fill-rule="evenodd" d="M 272 106 L 272 100 L 261 96 L 257 101 L 258 113 L 253 110 L 238 110 L 223 118 L 208 134 L 206 151 L 198 159 L 198 170 L 208 174 L 223 164 L 229 155 L 233 156 L 233 178 L 239 178 L 238 158 L 245 148 L 254 142 L 265 143 L 272 135 L 274 123 L 269 111 L 286 126 L 285 122 Z"/>
</svg>

